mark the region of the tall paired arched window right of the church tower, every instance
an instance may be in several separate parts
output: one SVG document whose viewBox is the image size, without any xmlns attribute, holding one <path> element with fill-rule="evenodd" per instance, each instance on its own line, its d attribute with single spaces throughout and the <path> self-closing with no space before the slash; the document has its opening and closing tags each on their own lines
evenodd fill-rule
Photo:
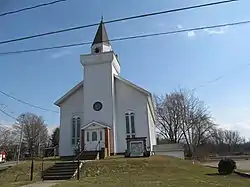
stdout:
<svg viewBox="0 0 250 187">
<path fill-rule="evenodd" d="M 125 122 L 127 138 L 135 138 L 135 113 L 126 112 Z"/>
</svg>

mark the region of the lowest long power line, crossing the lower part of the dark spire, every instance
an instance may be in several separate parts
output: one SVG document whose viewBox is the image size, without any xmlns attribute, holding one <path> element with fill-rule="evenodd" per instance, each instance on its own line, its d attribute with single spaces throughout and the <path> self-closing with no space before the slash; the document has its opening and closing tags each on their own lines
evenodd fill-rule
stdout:
<svg viewBox="0 0 250 187">
<path fill-rule="evenodd" d="M 199 30 L 205 30 L 205 29 L 214 29 L 214 28 L 237 26 L 237 25 L 243 25 L 243 24 L 249 24 L 249 23 L 250 23 L 250 20 L 246 20 L 246 21 L 239 21 L 239 22 L 225 23 L 225 24 L 218 24 L 218 25 L 211 25 L 211 26 L 203 26 L 203 27 L 195 27 L 195 28 L 181 29 L 181 30 L 168 31 L 168 32 L 159 32 L 159 33 L 152 33 L 152 34 L 142 34 L 142 35 L 135 35 L 135 36 L 128 36 L 128 37 L 120 37 L 120 38 L 110 39 L 109 41 L 113 41 L 113 42 L 125 41 L 125 40 L 139 39 L 139 38 L 147 38 L 147 37 L 155 37 L 155 36 L 162 36 L 162 35 L 178 34 L 178 33 L 183 33 L 183 32 L 190 32 L 190 31 L 199 31 Z M 92 42 L 82 42 L 82 43 L 59 45 L 59 46 L 54 46 L 54 47 L 25 49 L 25 50 L 19 50 L 19 51 L 8 51 L 8 52 L 2 52 L 2 53 L 0 53 L 0 55 L 4 56 L 4 55 L 12 55 L 12 54 L 20 54 L 20 53 L 28 53 L 28 52 L 48 51 L 48 50 L 60 49 L 60 48 L 84 46 L 84 45 L 89 45 L 91 43 Z"/>
</svg>

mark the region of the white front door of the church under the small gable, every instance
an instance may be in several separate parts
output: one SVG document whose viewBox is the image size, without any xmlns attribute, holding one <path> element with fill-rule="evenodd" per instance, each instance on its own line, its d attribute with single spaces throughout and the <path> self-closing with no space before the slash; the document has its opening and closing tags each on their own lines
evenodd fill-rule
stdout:
<svg viewBox="0 0 250 187">
<path fill-rule="evenodd" d="M 87 151 L 99 151 L 105 146 L 104 129 L 86 129 L 85 130 L 85 149 Z"/>
</svg>

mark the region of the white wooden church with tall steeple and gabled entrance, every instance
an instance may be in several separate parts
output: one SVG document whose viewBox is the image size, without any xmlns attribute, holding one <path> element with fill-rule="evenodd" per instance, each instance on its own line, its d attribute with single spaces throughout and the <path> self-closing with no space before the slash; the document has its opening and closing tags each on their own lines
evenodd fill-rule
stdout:
<svg viewBox="0 0 250 187">
<path fill-rule="evenodd" d="M 146 137 L 147 148 L 156 145 L 152 94 L 120 76 L 120 62 L 112 50 L 101 21 L 91 53 L 80 56 L 83 81 L 55 105 L 60 107 L 59 155 L 105 147 L 124 153 L 126 138 Z"/>
</svg>

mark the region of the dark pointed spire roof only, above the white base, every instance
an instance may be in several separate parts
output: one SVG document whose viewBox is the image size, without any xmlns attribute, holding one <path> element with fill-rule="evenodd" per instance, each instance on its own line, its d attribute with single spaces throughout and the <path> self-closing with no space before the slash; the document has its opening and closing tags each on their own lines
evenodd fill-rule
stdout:
<svg viewBox="0 0 250 187">
<path fill-rule="evenodd" d="M 92 46 L 95 44 L 106 44 L 106 45 L 110 45 L 109 43 L 109 39 L 108 39 L 108 35 L 107 35 L 107 31 L 103 22 L 103 16 L 101 19 L 101 22 L 99 24 L 98 30 L 96 32 L 95 35 L 95 39 L 92 43 Z"/>
</svg>

